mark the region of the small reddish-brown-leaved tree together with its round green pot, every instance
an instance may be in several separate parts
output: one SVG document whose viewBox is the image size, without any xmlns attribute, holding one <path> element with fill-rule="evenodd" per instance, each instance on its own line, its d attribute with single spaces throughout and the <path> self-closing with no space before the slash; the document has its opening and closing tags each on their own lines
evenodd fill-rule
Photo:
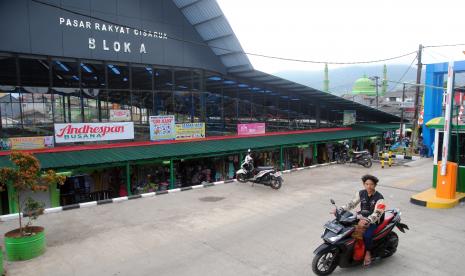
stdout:
<svg viewBox="0 0 465 276">
<path fill-rule="evenodd" d="M 44 228 L 32 226 L 32 221 L 43 214 L 45 204 L 31 197 L 24 200 L 22 195 L 28 191 L 47 191 L 52 184 L 63 184 L 65 177 L 57 175 L 53 170 L 43 173 L 39 160 L 29 153 L 13 152 L 10 160 L 15 166 L 0 169 L 0 188 L 4 189 L 7 183 L 11 183 L 10 187 L 16 191 L 19 228 L 5 234 L 6 256 L 10 261 L 28 260 L 45 251 Z M 22 215 L 29 218 L 25 225 Z"/>
</svg>

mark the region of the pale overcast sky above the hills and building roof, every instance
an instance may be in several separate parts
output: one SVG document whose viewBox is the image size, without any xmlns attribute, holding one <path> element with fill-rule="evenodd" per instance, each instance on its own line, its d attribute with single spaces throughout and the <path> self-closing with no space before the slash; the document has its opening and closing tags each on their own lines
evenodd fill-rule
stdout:
<svg viewBox="0 0 465 276">
<path fill-rule="evenodd" d="M 246 52 L 348 62 L 399 56 L 417 50 L 420 43 L 465 43 L 463 0 L 217 1 Z M 464 50 L 465 46 L 428 48 L 423 60 L 465 60 Z M 413 58 L 390 63 L 410 64 Z M 255 69 L 268 73 L 324 68 L 253 56 L 249 59 Z"/>
</svg>

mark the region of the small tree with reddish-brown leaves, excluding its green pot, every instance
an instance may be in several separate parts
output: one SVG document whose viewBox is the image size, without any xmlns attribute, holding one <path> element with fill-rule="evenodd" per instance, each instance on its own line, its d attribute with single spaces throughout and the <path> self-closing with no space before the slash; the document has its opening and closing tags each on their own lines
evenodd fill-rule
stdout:
<svg viewBox="0 0 465 276">
<path fill-rule="evenodd" d="M 12 183 L 12 187 L 16 190 L 16 200 L 18 203 L 18 218 L 19 218 L 19 232 L 21 236 L 30 234 L 28 227 L 32 219 L 36 219 L 39 215 L 43 214 L 44 204 L 41 204 L 32 198 L 27 198 L 25 202 L 24 214 L 30 220 L 25 227 L 21 221 L 21 194 L 26 191 L 47 191 L 52 184 L 62 185 L 65 181 L 64 176 L 57 175 L 55 171 L 48 170 L 42 173 L 40 170 L 40 162 L 34 155 L 25 152 L 12 152 L 10 160 L 15 165 L 13 168 L 0 169 L 0 189 L 5 189 L 7 183 Z"/>
</svg>

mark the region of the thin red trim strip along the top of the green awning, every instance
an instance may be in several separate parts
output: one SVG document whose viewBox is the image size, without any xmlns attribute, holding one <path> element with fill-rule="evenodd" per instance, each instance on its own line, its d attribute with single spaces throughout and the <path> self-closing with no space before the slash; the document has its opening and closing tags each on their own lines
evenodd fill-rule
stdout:
<svg viewBox="0 0 465 276">
<path fill-rule="evenodd" d="M 66 152 L 66 151 L 82 151 L 82 150 L 95 150 L 95 149 L 109 149 L 109 148 L 127 148 L 127 147 L 140 147 L 140 146 L 151 146 L 151 145 L 166 145 L 166 144 L 178 144 L 178 143 L 190 143 L 199 141 L 215 141 L 215 140 L 228 140 L 228 139 L 242 139 L 251 137 L 264 137 L 264 136 L 278 136 L 278 135 L 292 135 L 292 134 L 305 134 L 305 133 L 318 133 L 318 132 L 335 132 L 343 130 L 352 130 L 351 127 L 340 127 L 340 128 L 318 128 L 310 130 L 295 130 L 295 131 L 282 131 L 282 132 L 271 132 L 266 134 L 256 135 L 230 135 L 230 136 L 211 136 L 203 139 L 191 139 L 191 140 L 178 140 L 178 141 L 142 141 L 142 142 L 125 142 L 115 144 L 98 144 L 98 145 L 82 145 L 82 146 L 64 146 L 51 149 L 37 149 L 37 150 L 24 150 L 29 153 L 49 153 L 49 152 Z M 9 155 L 11 150 L 0 152 L 0 156 Z"/>
</svg>

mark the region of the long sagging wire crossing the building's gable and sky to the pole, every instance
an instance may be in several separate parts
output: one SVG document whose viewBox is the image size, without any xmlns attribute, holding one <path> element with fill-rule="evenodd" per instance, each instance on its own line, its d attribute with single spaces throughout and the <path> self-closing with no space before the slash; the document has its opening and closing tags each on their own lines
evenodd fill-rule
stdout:
<svg viewBox="0 0 465 276">
<path fill-rule="evenodd" d="M 94 20 L 99 20 L 99 21 L 101 21 L 101 22 L 105 22 L 105 23 L 108 23 L 108 24 L 117 25 L 117 26 L 121 26 L 121 27 L 125 27 L 125 28 L 130 28 L 130 29 L 133 29 L 133 30 L 142 31 L 142 32 L 146 32 L 146 33 L 149 33 L 149 34 L 152 34 L 152 35 L 153 35 L 153 32 L 152 32 L 152 31 L 149 31 L 149 30 L 142 30 L 142 29 L 140 29 L 140 28 L 135 28 L 135 27 L 132 27 L 132 26 L 129 26 L 129 25 L 124 25 L 124 24 L 115 23 L 115 22 L 112 22 L 112 21 L 109 21 L 109 20 L 106 20 L 106 19 L 102 19 L 102 18 L 95 17 L 95 16 L 92 16 L 92 15 L 80 13 L 80 12 L 77 12 L 77 11 L 73 11 L 73 10 L 70 10 L 70 9 L 66 9 L 66 8 L 63 8 L 63 7 L 54 5 L 54 4 L 45 3 L 45 2 L 42 2 L 42 1 L 38 1 L 38 0 L 31 0 L 31 1 L 32 1 L 32 2 L 35 2 L 35 3 L 37 3 L 37 4 L 41 4 L 41 5 L 44 5 L 44 6 L 49 6 L 49 7 L 52 7 L 52 8 L 55 8 L 55 9 L 59 9 L 59 10 L 62 10 L 62 11 L 68 12 L 68 13 L 75 14 L 75 15 L 84 16 L 84 17 L 91 18 L 91 19 L 94 19 Z M 179 42 L 186 42 L 186 43 L 194 44 L 194 45 L 197 45 L 197 46 L 204 46 L 204 47 L 214 48 L 214 49 L 226 51 L 226 52 L 228 52 L 228 53 L 245 54 L 245 55 L 249 55 L 249 56 L 263 57 L 263 58 L 269 58 L 269 59 L 284 60 L 284 61 L 293 61 L 293 62 L 302 62 L 302 63 L 315 63 L 315 64 L 327 63 L 327 64 L 337 64 L 337 65 L 350 65 L 350 64 L 379 63 L 379 62 L 383 62 L 383 61 L 389 61 L 389 60 L 394 60 L 394 59 L 403 58 L 403 57 L 410 56 L 410 55 L 416 53 L 416 51 L 413 51 L 413 52 L 409 52 L 409 53 L 402 54 L 402 55 L 399 55 L 399 56 L 394 56 L 394 57 L 389 57 L 389 58 L 383 58 L 383 59 L 377 59 L 377 60 L 368 60 L 368 61 L 350 61 L 350 62 L 318 61 L 318 60 L 294 59 L 294 58 L 285 58 L 285 57 L 264 55 L 264 54 L 258 54 L 258 53 L 251 53 L 251 52 L 245 52 L 245 51 L 242 50 L 242 49 L 241 49 L 241 51 L 235 51 L 235 50 L 226 49 L 226 48 L 222 48 L 222 47 L 218 47 L 218 46 L 208 45 L 207 43 L 200 43 L 200 42 L 191 41 L 191 40 L 185 40 L 185 39 L 181 39 L 181 38 L 177 38 L 177 37 L 172 37 L 172 36 L 167 36 L 167 38 L 168 38 L 168 39 L 175 40 L 175 41 L 179 41 Z"/>
</svg>

